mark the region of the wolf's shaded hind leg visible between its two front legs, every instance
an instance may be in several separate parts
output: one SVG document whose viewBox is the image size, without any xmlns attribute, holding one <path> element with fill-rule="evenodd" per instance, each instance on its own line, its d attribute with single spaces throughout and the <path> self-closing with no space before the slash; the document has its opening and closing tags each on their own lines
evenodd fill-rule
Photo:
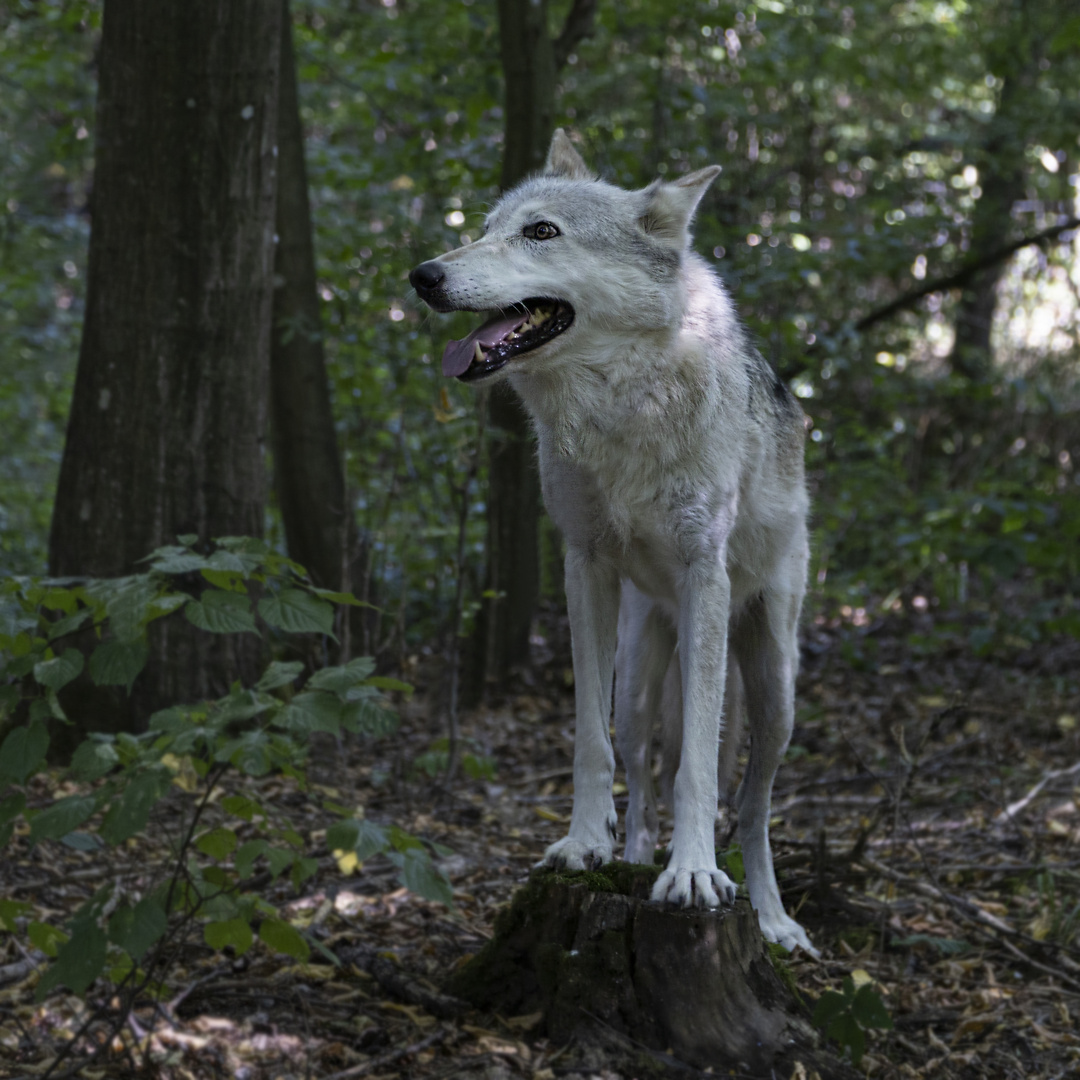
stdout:
<svg viewBox="0 0 1080 1080">
<path fill-rule="evenodd" d="M 674 650 L 671 621 L 649 597 L 623 582 L 615 660 L 615 731 L 626 770 L 627 863 L 651 863 L 657 847 L 660 819 L 652 784 L 652 726 Z"/>
</svg>

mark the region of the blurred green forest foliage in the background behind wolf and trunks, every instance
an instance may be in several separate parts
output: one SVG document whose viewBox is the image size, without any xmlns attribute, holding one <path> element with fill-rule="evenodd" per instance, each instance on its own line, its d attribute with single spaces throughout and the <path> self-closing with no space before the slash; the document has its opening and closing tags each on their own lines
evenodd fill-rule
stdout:
<svg viewBox="0 0 1080 1080">
<path fill-rule="evenodd" d="M 557 31 L 566 5 L 552 6 Z M 43 3 L 13 11 L 0 35 L 11 89 L 0 96 L 0 571 L 44 562 L 85 280 L 99 25 L 99 3 Z M 498 194 L 496 12 L 310 0 L 295 36 L 337 424 L 373 589 L 394 613 L 380 632 L 428 643 L 450 620 L 448 523 L 476 411 L 436 363 L 470 316 L 422 312 L 407 272 L 476 239 Z M 604 176 L 640 186 L 724 166 L 696 246 L 813 419 L 813 599 L 825 616 L 922 596 L 960 609 L 950 642 L 988 656 L 1010 639 L 1080 633 L 1069 246 L 1011 264 L 985 384 L 949 374 L 958 289 L 854 328 L 971 257 L 993 177 L 1016 172 L 1026 191 L 1000 221 L 1002 242 L 1070 211 L 1075 38 L 1065 0 L 1030 11 L 1007 0 L 626 0 L 598 5 L 558 75 L 555 121 Z M 1051 309 L 1052 334 L 1022 333 Z M 470 613 L 483 588 L 484 484 L 482 473 L 464 494 Z M 341 602 L 305 590 L 245 606 L 238 566 L 235 553 L 207 563 L 181 548 L 153 568 L 201 571 L 222 594 L 240 584 L 238 599 L 186 603 L 185 617 L 212 630 L 249 630 L 256 610 L 285 629 L 325 629 L 313 599 Z M 995 591 L 1016 581 L 1044 602 L 1022 627 L 996 613 Z M 875 662 L 858 648 L 855 662 Z M 97 662 L 127 685 L 138 659 L 113 648 Z"/>
</svg>

